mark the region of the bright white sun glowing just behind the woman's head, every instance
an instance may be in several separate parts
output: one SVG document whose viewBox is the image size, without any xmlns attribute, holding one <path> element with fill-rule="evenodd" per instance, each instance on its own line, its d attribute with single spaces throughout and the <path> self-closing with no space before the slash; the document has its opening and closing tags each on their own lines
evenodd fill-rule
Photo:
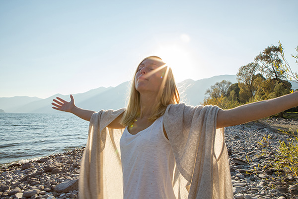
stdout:
<svg viewBox="0 0 298 199">
<path fill-rule="evenodd" d="M 177 45 L 160 46 L 154 55 L 160 57 L 172 69 L 176 83 L 192 76 L 193 63 L 186 49 Z"/>
</svg>

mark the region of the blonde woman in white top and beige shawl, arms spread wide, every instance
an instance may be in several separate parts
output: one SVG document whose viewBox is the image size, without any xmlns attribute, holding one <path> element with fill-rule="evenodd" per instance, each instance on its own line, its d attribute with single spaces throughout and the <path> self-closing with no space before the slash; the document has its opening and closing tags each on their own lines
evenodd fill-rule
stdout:
<svg viewBox="0 0 298 199">
<path fill-rule="evenodd" d="M 95 113 L 76 107 L 73 96 L 54 101 L 54 109 L 90 121 L 81 199 L 231 199 L 224 127 L 297 106 L 298 92 L 229 110 L 187 106 L 171 69 L 150 56 L 137 68 L 126 109 Z"/>
</svg>

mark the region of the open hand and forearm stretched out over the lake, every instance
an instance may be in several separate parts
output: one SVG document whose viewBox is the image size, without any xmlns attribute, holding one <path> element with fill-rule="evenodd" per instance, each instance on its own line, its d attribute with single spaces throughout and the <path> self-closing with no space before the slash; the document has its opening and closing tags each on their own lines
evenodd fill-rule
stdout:
<svg viewBox="0 0 298 199">
<path fill-rule="evenodd" d="M 72 95 L 71 95 L 71 101 L 66 101 L 61 98 L 56 98 L 56 99 L 53 100 L 55 101 L 55 103 L 54 102 L 52 103 L 52 105 L 54 105 L 53 106 L 54 109 L 65 111 L 65 112 L 71 112 L 84 120 L 90 121 L 92 114 L 95 112 L 93 110 L 86 110 L 75 106 L 74 97 Z"/>
</svg>

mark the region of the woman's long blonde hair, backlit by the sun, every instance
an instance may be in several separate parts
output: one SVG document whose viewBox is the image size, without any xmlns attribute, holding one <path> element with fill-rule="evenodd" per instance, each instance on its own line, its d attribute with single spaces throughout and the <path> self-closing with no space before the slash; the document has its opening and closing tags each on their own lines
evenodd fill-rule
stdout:
<svg viewBox="0 0 298 199">
<path fill-rule="evenodd" d="M 140 64 L 138 65 L 138 68 L 142 64 L 142 62 L 145 61 L 146 59 L 155 59 L 155 60 L 158 59 L 158 61 L 160 60 L 163 63 L 160 57 L 149 56 L 140 62 Z M 168 66 L 166 66 L 165 68 L 167 69 L 167 67 Z M 124 115 L 121 119 L 121 124 L 124 126 L 131 125 L 141 112 L 140 93 L 136 90 L 136 87 L 135 87 L 136 85 L 135 77 L 138 72 L 138 68 L 135 72 L 135 75 L 131 84 L 131 92 L 130 92 L 130 98 L 128 101 L 127 109 L 124 112 Z M 179 97 L 178 89 L 175 84 L 172 69 L 168 67 L 166 71 L 167 72 L 164 75 L 164 78 L 165 78 L 164 85 L 161 85 L 160 95 L 158 95 L 159 100 L 157 101 L 157 104 L 155 105 L 155 107 L 153 107 L 153 112 L 151 117 L 149 117 L 149 120 L 155 120 L 161 115 L 163 115 L 167 105 L 171 103 L 176 104 L 176 103 L 179 103 L 180 101 L 180 97 Z"/>
</svg>

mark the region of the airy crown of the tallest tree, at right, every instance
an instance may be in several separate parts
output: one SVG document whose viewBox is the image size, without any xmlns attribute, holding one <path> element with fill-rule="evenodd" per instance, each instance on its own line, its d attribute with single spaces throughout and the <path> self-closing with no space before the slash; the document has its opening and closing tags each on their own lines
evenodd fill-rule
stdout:
<svg viewBox="0 0 298 199">
<path fill-rule="evenodd" d="M 254 61 L 259 63 L 262 72 L 267 78 L 273 78 L 278 81 L 285 79 L 285 75 L 279 71 L 283 60 L 280 58 L 281 52 L 278 46 L 268 46 L 255 57 Z"/>
</svg>

